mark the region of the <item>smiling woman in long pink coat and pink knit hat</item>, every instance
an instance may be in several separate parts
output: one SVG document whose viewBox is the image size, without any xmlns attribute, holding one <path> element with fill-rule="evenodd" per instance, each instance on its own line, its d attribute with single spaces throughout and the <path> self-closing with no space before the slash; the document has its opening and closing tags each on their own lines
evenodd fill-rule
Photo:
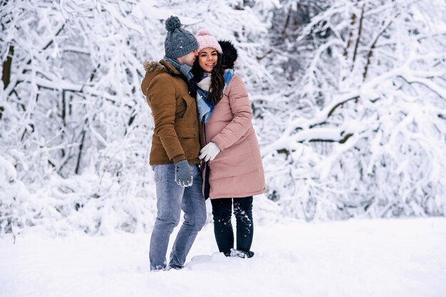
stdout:
<svg viewBox="0 0 446 297">
<path fill-rule="evenodd" d="M 232 43 L 221 43 L 225 55 L 209 31 L 199 30 L 197 41 L 198 58 L 192 72 L 197 80 L 199 119 L 204 125 L 205 146 L 199 156 L 207 162 L 203 175 L 208 186 L 204 186 L 204 195 L 211 198 L 219 251 L 227 257 L 251 258 L 253 195 L 265 191 L 259 143 L 251 123 L 251 104 L 242 79 L 234 74 L 237 50 Z M 235 250 L 233 204 L 237 222 Z"/>
</svg>

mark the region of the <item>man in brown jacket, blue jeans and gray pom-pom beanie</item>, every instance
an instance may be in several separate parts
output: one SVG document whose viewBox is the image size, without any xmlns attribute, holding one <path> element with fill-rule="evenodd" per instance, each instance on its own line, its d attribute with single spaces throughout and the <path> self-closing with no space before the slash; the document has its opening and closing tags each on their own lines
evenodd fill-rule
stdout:
<svg viewBox="0 0 446 297">
<path fill-rule="evenodd" d="M 206 206 L 199 171 L 199 126 L 197 104 L 188 92 L 190 72 L 197 53 L 197 39 L 170 16 L 165 23 L 165 57 L 145 62 L 142 93 L 152 109 L 153 130 L 150 165 L 155 174 L 157 218 L 150 238 L 150 270 L 181 269 L 187 253 L 206 222 Z M 170 261 L 166 253 L 170 234 L 180 222 Z"/>
</svg>

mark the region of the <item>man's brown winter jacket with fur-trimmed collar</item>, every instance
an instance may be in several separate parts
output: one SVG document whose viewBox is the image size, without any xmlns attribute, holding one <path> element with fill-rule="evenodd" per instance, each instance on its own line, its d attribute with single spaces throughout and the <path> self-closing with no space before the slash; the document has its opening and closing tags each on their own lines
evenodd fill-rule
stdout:
<svg viewBox="0 0 446 297">
<path fill-rule="evenodd" d="M 199 163 L 197 103 L 180 72 L 165 60 L 145 62 L 141 90 L 152 109 L 153 129 L 150 165 L 187 159 Z"/>
</svg>

